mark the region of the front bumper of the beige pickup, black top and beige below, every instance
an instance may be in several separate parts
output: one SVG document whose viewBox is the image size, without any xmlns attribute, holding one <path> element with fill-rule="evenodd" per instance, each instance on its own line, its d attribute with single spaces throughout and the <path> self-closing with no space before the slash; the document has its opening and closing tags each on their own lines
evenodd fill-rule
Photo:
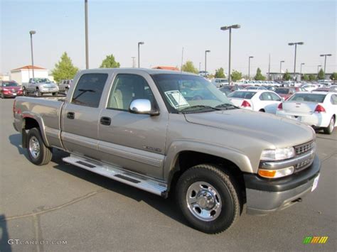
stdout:
<svg viewBox="0 0 337 252">
<path fill-rule="evenodd" d="M 269 214 L 295 204 L 311 192 L 320 170 L 321 162 L 316 155 L 309 168 L 278 180 L 265 180 L 255 174 L 245 174 L 247 214 Z"/>
</svg>

